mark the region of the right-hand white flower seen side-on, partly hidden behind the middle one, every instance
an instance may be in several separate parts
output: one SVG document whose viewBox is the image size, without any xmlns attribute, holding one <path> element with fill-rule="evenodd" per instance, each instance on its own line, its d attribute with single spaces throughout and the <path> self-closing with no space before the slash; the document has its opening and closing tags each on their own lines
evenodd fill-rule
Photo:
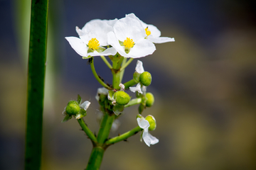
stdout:
<svg viewBox="0 0 256 170">
<path fill-rule="evenodd" d="M 135 16 L 134 13 L 129 13 L 126 15 L 126 17 L 134 18 L 137 21 L 139 21 L 142 24 L 144 30 L 146 31 L 145 38 L 147 40 L 150 40 L 151 42 L 164 43 L 164 42 L 174 42 L 175 41 L 174 38 L 160 37 L 161 32 L 159 29 L 156 28 L 156 26 L 144 23 L 137 16 Z"/>
</svg>

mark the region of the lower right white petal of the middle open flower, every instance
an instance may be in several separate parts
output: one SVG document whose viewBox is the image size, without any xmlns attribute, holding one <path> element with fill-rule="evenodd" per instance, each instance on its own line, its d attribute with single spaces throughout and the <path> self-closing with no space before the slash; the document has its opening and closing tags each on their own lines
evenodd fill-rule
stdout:
<svg viewBox="0 0 256 170">
<path fill-rule="evenodd" d="M 146 55 L 153 54 L 155 50 L 156 47 L 153 42 L 142 38 L 139 41 L 135 42 L 134 47 L 131 48 L 127 55 L 132 58 L 145 57 Z"/>
</svg>

